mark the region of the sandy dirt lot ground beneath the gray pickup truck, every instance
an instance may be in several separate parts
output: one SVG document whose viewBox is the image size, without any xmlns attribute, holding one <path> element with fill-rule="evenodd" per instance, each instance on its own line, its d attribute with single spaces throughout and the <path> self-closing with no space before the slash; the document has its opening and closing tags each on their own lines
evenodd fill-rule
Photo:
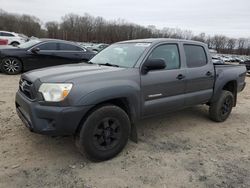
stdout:
<svg viewBox="0 0 250 188">
<path fill-rule="evenodd" d="M 92 163 L 71 137 L 28 131 L 15 113 L 18 80 L 0 74 L 1 188 L 250 187 L 249 86 L 224 123 L 210 121 L 206 106 L 144 120 L 138 144 Z"/>
</svg>

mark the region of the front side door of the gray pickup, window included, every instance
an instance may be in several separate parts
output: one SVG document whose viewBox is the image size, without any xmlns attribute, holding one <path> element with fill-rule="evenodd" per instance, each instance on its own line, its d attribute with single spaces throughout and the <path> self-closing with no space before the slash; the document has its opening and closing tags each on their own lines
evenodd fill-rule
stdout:
<svg viewBox="0 0 250 188">
<path fill-rule="evenodd" d="M 164 59 L 166 68 L 141 75 L 142 116 L 148 117 L 182 108 L 186 70 L 181 64 L 179 44 L 160 44 L 147 58 Z"/>
</svg>

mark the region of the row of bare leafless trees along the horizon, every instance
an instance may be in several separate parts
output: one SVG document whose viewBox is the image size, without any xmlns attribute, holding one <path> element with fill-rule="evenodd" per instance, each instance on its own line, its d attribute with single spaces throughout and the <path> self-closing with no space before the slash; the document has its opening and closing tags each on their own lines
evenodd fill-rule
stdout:
<svg viewBox="0 0 250 188">
<path fill-rule="evenodd" d="M 114 43 L 139 38 L 176 38 L 207 43 L 219 53 L 250 55 L 250 39 L 230 38 L 224 35 L 195 35 L 191 30 L 179 28 L 157 29 L 154 25 L 144 27 L 122 19 L 113 21 L 89 14 L 67 14 L 60 22 L 43 24 L 31 15 L 11 14 L 0 10 L 0 30 L 23 33 L 27 36 L 48 37 L 78 42 Z"/>
</svg>

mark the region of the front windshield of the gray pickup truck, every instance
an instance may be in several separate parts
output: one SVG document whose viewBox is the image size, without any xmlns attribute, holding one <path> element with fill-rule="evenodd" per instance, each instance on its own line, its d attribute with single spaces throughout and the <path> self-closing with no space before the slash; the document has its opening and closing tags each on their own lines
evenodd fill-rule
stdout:
<svg viewBox="0 0 250 188">
<path fill-rule="evenodd" d="M 113 44 L 91 59 L 94 64 L 110 64 L 131 68 L 151 43 Z"/>
</svg>

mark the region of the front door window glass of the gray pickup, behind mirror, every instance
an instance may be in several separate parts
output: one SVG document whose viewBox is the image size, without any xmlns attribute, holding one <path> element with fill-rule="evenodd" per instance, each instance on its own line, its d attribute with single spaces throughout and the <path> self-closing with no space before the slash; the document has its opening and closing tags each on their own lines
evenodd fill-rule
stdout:
<svg viewBox="0 0 250 188">
<path fill-rule="evenodd" d="M 156 47 L 149 59 L 164 59 L 166 70 L 180 68 L 180 55 L 177 44 L 163 44 Z"/>
</svg>

